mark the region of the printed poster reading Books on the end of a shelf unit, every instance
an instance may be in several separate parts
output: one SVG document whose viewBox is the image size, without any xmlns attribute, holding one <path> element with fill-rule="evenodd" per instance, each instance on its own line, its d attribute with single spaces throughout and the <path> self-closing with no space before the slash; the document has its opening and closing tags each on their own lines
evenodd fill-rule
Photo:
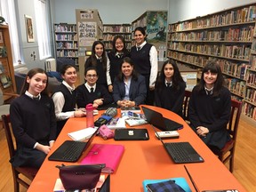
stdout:
<svg viewBox="0 0 256 192">
<path fill-rule="evenodd" d="M 79 46 L 92 46 L 97 40 L 96 22 L 78 22 L 78 42 Z"/>
</svg>

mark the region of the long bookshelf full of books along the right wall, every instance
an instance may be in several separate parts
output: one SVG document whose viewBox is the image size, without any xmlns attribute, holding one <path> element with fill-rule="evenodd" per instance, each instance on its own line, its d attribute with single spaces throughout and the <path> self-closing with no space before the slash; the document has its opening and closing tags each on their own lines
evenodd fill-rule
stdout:
<svg viewBox="0 0 256 192">
<path fill-rule="evenodd" d="M 217 60 L 232 98 L 256 122 L 255 20 L 256 4 L 245 4 L 169 24 L 167 57 L 196 69 Z"/>
</svg>

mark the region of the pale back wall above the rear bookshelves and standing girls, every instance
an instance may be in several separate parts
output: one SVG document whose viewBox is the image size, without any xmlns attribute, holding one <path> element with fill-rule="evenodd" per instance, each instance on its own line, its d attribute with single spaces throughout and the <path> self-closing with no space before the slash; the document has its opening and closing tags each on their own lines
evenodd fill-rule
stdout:
<svg viewBox="0 0 256 192">
<path fill-rule="evenodd" d="M 76 9 L 97 9 L 104 24 L 132 23 L 143 12 L 168 10 L 169 0 L 51 0 L 54 23 L 76 23 Z"/>
</svg>

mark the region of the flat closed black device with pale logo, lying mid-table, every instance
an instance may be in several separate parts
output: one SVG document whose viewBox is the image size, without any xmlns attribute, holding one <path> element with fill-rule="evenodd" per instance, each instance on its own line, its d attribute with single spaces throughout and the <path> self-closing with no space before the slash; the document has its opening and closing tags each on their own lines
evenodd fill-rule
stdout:
<svg viewBox="0 0 256 192">
<path fill-rule="evenodd" d="M 149 140 L 147 129 L 116 129 L 114 140 Z"/>
</svg>

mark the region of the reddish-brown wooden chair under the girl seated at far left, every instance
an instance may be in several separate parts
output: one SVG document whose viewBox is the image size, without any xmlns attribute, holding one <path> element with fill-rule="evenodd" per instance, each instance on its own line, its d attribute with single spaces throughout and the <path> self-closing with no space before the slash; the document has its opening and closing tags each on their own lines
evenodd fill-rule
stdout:
<svg viewBox="0 0 256 192">
<path fill-rule="evenodd" d="M 11 127 L 10 127 L 10 115 L 3 115 L 3 126 L 4 126 L 4 132 L 6 136 L 6 140 L 8 143 L 8 148 L 9 148 L 9 155 L 10 158 L 14 156 L 15 154 L 15 148 L 14 148 L 14 143 L 12 139 L 12 132 L 11 132 Z M 24 186 L 25 188 L 29 187 L 29 184 L 26 180 L 23 180 L 20 178 L 20 174 L 24 175 L 25 177 L 28 178 L 28 180 L 33 180 L 36 176 L 38 169 L 32 168 L 32 167 L 13 167 L 12 166 L 12 176 L 13 176 L 13 183 L 14 183 L 14 191 L 19 192 L 20 191 L 20 184 Z"/>
</svg>

